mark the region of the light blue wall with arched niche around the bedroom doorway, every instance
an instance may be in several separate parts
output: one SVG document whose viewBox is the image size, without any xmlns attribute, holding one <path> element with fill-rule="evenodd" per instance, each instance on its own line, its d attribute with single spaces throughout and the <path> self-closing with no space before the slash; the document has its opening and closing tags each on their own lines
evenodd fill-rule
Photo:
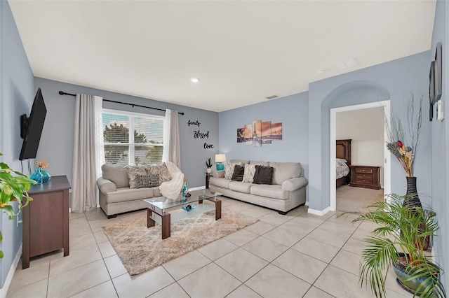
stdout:
<svg viewBox="0 0 449 298">
<path fill-rule="evenodd" d="M 391 111 L 405 118 L 403 100 L 415 94 L 423 97 L 422 131 L 415 161 L 417 190 L 422 203 L 431 205 L 431 154 L 429 147 L 429 52 L 345 73 L 309 84 L 309 208 L 323 211 L 330 206 L 329 118 L 330 108 L 391 100 Z M 400 164 L 391 161 L 391 192 L 405 194 L 406 174 Z"/>
</svg>

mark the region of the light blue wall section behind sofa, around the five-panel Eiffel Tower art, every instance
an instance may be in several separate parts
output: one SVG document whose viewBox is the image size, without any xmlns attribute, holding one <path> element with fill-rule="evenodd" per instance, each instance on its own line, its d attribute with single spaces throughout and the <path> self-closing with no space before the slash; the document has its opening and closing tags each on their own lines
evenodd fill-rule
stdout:
<svg viewBox="0 0 449 298">
<path fill-rule="evenodd" d="M 220 152 L 226 159 L 300 162 L 309 169 L 307 92 L 220 113 Z M 282 122 L 282 140 L 261 147 L 237 143 L 237 129 L 253 120 Z"/>
</svg>

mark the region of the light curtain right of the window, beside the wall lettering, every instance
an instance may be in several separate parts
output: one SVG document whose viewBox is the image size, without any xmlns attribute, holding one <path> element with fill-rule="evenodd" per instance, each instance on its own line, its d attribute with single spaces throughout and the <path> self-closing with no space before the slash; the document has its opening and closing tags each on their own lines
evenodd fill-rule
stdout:
<svg viewBox="0 0 449 298">
<path fill-rule="evenodd" d="M 180 125 L 177 120 L 177 111 L 166 110 L 163 123 L 163 162 L 173 162 L 181 169 Z"/>
</svg>

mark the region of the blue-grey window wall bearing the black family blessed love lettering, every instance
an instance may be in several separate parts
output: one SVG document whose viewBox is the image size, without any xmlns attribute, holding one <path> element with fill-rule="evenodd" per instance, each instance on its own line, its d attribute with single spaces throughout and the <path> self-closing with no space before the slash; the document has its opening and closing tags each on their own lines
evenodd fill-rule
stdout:
<svg viewBox="0 0 449 298">
<path fill-rule="evenodd" d="M 84 93 L 98 95 L 113 101 L 122 101 L 142 106 L 154 108 L 170 108 L 185 115 L 179 115 L 180 122 L 180 146 L 181 146 L 181 170 L 187 175 L 189 187 L 200 187 L 205 185 L 206 159 L 213 157 L 218 152 L 218 113 L 168 104 L 141 97 L 108 92 L 104 90 L 83 87 L 47 80 L 44 78 L 34 78 L 36 88 L 41 87 L 43 99 L 47 106 L 47 116 L 43 125 L 41 143 L 37 152 L 37 159 L 45 157 L 48 159 L 48 172 L 51 175 L 66 175 L 72 183 L 72 162 L 74 146 L 74 108 L 75 98 L 71 96 L 61 96 L 60 90 L 67 93 Z M 123 104 L 103 102 L 104 108 L 111 108 L 121 111 L 133 111 L 137 113 L 149 113 L 152 115 L 164 115 L 163 111 L 156 111 L 147 108 L 138 108 Z M 199 127 L 187 125 L 187 121 L 198 120 Z M 194 130 L 201 132 L 209 131 L 208 139 L 194 139 Z M 204 149 L 204 143 L 214 145 L 214 148 Z"/>
</svg>

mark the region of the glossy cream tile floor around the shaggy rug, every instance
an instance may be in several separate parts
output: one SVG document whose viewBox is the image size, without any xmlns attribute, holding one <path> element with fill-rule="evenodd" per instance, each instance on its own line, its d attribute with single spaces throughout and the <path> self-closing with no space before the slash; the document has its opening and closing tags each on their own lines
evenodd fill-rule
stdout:
<svg viewBox="0 0 449 298">
<path fill-rule="evenodd" d="M 373 225 L 323 217 L 307 206 L 279 215 L 223 197 L 223 206 L 259 218 L 234 234 L 138 276 L 129 276 L 102 226 L 100 208 L 70 214 L 70 255 L 62 250 L 19 263 L 6 297 L 373 297 L 358 285 L 363 239 Z M 412 297 L 387 271 L 387 297 Z"/>
</svg>

